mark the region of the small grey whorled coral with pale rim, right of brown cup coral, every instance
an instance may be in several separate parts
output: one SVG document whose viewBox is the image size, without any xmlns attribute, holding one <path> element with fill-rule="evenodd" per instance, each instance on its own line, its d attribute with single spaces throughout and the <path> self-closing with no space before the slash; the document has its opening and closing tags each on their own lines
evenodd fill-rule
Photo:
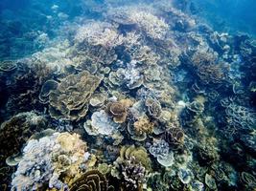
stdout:
<svg viewBox="0 0 256 191">
<path fill-rule="evenodd" d="M 147 106 L 148 112 L 151 117 L 153 118 L 161 117 L 162 107 L 158 100 L 153 98 L 147 98 L 145 101 L 145 105 Z"/>
</svg>

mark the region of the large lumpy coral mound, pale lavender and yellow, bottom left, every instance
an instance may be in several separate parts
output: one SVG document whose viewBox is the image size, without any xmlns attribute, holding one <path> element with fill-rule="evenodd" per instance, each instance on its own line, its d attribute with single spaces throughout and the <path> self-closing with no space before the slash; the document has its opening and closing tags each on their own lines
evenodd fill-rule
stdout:
<svg viewBox="0 0 256 191">
<path fill-rule="evenodd" d="M 55 133 L 31 139 L 23 150 L 23 157 L 12 179 L 12 189 L 36 190 L 45 183 L 50 188 L 66 189 L 65 179 L 80 173 L 86 161 L 86 145 L 76 134 Z"/>
</svg>

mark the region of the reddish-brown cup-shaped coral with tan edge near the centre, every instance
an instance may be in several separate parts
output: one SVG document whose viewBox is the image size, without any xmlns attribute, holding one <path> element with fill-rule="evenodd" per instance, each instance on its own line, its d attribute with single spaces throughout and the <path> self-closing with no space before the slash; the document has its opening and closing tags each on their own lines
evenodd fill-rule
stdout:
<svg viewBox="0 0 256 191">
<path fill-rule="evenodd" d="M 128 107 L 132 105 L 132 101 L 129 99 L 122 99 L 116 102 L 109 102 L 106 105 L 105 112 L 113 117 L 116 123 L 123 123 L 128 116 Z"/>
</svg>

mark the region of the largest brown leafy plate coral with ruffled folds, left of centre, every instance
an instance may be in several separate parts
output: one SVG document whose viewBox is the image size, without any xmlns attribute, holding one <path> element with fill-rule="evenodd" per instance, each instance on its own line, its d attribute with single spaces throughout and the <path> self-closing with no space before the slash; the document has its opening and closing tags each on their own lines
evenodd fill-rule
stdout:
<svg viewBox="0 0 256 191">
<path fill-rule="evenodd" d="M 58 88 L 49 95 L 51 117 L 65 117 L 70 120 L 84 117 L 88 111 L 89 98 L 102 79 L 103 77 L 86 71 L 63 78 Z"/>
</svg>

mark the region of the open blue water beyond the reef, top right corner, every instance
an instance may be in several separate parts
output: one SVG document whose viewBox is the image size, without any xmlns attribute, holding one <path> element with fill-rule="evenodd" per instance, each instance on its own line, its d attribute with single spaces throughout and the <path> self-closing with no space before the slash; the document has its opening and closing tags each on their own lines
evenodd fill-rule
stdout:
<svg viewBox="0 0 256 191">
<path fill-rule="evenodd" d="M 256 33 L 256 1 L 254 0 L 192 0 L 198 15 L 221 32 Z"/>
</svg>

